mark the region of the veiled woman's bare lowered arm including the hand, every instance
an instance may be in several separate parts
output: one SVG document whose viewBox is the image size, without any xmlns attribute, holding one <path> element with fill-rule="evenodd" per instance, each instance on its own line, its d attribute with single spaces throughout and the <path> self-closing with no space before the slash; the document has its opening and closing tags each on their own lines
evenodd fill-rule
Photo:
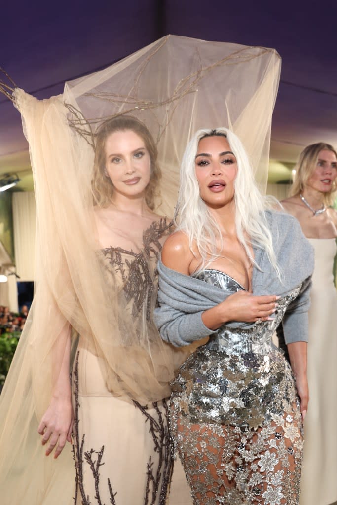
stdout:
<svg viewBox="0 0 337 505">
<path fill-rule="evenodd" d="M 42 445 L 49 442 L 45 455 L 49 456 L 56 447 L 54 458 L 60 455 L 67 440 L 71 443 L 74 420 L 69 377 L 70 335 L 71 327 L 66 322 L 53 349 L 54 387 L 51 402 L 38 427 Z"/>
</svg>

